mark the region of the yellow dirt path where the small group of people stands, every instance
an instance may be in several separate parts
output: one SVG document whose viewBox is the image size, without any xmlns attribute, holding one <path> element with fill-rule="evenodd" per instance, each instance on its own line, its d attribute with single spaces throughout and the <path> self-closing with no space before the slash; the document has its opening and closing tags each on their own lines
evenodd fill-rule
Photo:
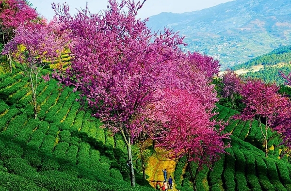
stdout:
<svg viewBox="0 0 291 191">
<path fill-rule="evenodd" d="M 146 175 L 149 176 L 147 181 L 150 183 L 152 187 L 155 187 L 157 181 L 162 184 L 164 180 L 162 169 L 167 170 L 167 178 L 172 176 L 173 178 L 173 189 L 169 191 L 177 191 L 175 189 L 175 179 L 174 179 L 174 171 L 176 167 L 176 161 L 173 159 L 167 159 L 165 157 L 164 150 L 155 150 L 155 153 L 149 158 L 148 165 L 146 168 Z"/>
</svg>

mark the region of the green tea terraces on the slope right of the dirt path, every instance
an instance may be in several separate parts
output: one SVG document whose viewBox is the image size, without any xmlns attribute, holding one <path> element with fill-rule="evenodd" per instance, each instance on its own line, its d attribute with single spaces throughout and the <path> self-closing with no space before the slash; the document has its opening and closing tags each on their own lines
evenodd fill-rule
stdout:
<svg viewBox="0 0 291 191">
<path fill-rule="evenodd" d="M 218 105 L 219 119 L 227 120 L 236 111 Z M 261 150 L 262 136 L 256 122 L 231 120 L 226 127 L 231 132 L 231 147 L 215 162 L 212 170 L 203 168 L 196 175 L 198 191 L 290 191 L 291 164 L 287 156 L 282 157 L 282 146 L 278 136 L 269 132 L 269 154 L 265 158 Z M 282 159 L 281 159 L 282 158 Z M 190 184 L 186 159 L 178 161 L 174 173 L 176 188 L 193 191 Z M 197 169 L 196 164 L 192 164 Z M 195 174 L 195 172 L 194 172 Z"/>
</svg>

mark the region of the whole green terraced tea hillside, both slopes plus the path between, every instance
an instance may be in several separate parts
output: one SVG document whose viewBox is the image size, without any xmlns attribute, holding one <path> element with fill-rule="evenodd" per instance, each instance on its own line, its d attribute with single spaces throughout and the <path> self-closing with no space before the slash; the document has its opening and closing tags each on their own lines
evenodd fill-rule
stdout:
<svg viewBox="0 0 291 191">
<path fill-rule="evenodd" d="M 100 121 L 81 108 L 77 97 L 55 80 L 41 80 L 39 118 L 33 119 L 28 79 L 21 72 L 0 75 L 0 190 L 150 191 L 150 185 L 161 179 L 161 164 L 173 167 L 169 173 L 174 175 L 175 190 L 193 190 L 185 159 L 168 160 L 168 164 L 155 157 L 157 152 L 150 159 L 154 162 L 147 165 L 149 182 L 135 163 L 139 185 L 131 189 L 124 142 L 100 128 Z M 223 120 L 236 113 L 220 105 L 217 111 L 217 118 Z M 291 190 L 291 164 L 286 155 L 282 157 L 284 148 L 275 133 L 269 132 L 270 151 L 265 158 L 256 122 L 230 120 L 226 131 L 232 133 L 228 154 L 212 170 L 203 168 L 197 173 L 198 191 Z"/>
</svg>

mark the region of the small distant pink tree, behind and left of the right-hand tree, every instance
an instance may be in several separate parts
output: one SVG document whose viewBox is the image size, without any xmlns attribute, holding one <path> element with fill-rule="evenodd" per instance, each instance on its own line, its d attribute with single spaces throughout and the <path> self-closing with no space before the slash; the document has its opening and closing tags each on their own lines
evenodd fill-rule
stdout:
<svg viewBox="0 0 291 191">
<path fill-rule="evenodd" d="M 222 96 L 224 98 L 230 97 L 232 107 L 235 109 L 235 99 L 241 92 L 242 80 L 234 71 L 227 69 L 223 75 L 222 83 Z"/>
</svg>

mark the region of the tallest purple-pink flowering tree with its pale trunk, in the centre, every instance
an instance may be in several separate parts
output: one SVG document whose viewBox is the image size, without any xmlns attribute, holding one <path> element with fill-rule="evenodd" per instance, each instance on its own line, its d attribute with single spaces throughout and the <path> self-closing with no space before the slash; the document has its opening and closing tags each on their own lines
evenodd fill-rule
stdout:
<svg viewBox="0 0 291 191">
<path fill-rule="evenodd" d="M 108 9 L 70 16 L 68 6 L 53 4 L 70 33 L 72 64 L 57 78 L 75 86 L 81 98 L 113 133 L 121 133 L 128 150 L 131 186 L 135 186 L 131 144 L 151 126 L 140 125 L 162 99 L 171 67 L 178 60 L 182 38 L 165 30 L 151 33 L 135 18 L 141 3 L 109 0 Z M 148 122 L 146 122 L 148 123 Z"/>
</svg>

